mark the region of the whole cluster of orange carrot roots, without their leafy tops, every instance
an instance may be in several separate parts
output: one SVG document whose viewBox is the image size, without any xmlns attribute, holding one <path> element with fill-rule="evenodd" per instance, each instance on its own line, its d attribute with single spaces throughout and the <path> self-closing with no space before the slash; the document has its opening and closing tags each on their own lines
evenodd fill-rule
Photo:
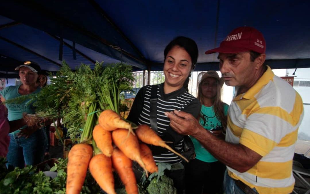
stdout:
<svg viewBox="0 0 310 194">
<path fill-rule="evenodd" d="M 146 144 L 165 147 L 178 156 L 149 126 L 132 125 L 112 110 L 103 111 L 92 131 L 91 145 L 88 135 L 82 134 L 81 143 L 72 147 L 68 156 L 67 194 L 79 194 L 87 169 L 108 194 L 116 194 L 113 169 L 117 172 L 128 194 L 138 194 L 132 160 L 148 173 L 158 171 L 152 152 Z M 88 137 L 88 139 L 87 139 Z M 187 161 L 187 160 L 186 160 Z"/>
</svg>

